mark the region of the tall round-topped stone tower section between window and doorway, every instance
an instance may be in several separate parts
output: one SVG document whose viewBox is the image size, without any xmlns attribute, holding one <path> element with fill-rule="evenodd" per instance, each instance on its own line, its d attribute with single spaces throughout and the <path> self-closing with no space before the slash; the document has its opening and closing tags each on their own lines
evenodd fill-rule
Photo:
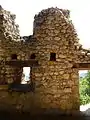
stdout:
<svg viewBox="0 0 90 120">
<path fill-rule="evenodd" d="M 35 73 L 42 107 L 79 109 L 78 38 L 69 11 L 49 8 L 35 16 L 34 37 L 41 70 Z M 37 84 L 36 84 L 37 85 Z"/>
</svg>

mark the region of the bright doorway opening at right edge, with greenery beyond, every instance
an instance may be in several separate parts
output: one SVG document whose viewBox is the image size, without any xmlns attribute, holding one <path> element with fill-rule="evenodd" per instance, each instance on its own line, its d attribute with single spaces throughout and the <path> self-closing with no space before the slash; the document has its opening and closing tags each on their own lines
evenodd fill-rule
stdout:
<svg viewBox="0 0 90 120">
<path fill-rule="evenodd" d="M 80 111 L 90 108 L 90 70 L 79 71 Z"/>
</svg>

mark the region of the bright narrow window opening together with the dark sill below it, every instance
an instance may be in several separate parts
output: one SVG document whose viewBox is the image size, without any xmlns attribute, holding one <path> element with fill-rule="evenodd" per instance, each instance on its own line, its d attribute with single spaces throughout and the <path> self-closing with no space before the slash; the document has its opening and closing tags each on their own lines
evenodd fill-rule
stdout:
<svg viewBox="0 0 90 120">
<path fill-rule="evenodd" d="M 35 86 L 31 80 L 31 67 L 23 67 L 20 83 L 13 82 L 9 84 L 8 89 L 17 92 L 33 92 Z"/>
</svg>

